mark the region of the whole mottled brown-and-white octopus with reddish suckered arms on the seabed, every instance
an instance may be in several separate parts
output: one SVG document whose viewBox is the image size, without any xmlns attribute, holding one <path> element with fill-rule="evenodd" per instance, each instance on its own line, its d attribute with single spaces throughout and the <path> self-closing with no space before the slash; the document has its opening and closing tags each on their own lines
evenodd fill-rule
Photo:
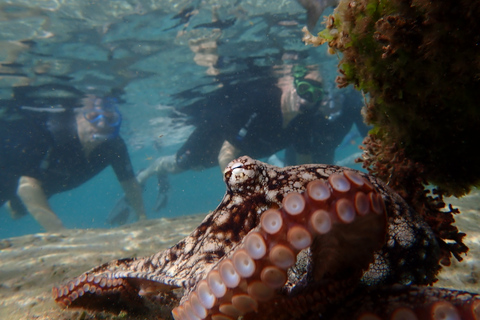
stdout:
<svg viewBox="0 0 480 320">
<path fill-rule="evenodd" d="M 375 177 L 247 156 L 185 239 L 53 288 L 64 308 L 212 319 L 480 319 L 480 295 L 430 286 L 429 226 Z"/>
</svg>

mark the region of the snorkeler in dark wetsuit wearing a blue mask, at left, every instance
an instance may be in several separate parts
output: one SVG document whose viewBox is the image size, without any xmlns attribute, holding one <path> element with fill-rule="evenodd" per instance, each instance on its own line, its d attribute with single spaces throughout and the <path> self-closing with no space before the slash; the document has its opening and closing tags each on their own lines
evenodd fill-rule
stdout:
<svg viewBox="0 0 480 320">
<path fill-rule="evenodd" d="M 119 136 L 114 99 L 86 95 L 76 108 L 22 106 L 23 117 L 0 119 L 0 205 L 14 218 L 29 212 L 47 231 L 64 226 L 48 203 L 111 165 L 137 219 L 142 192 Z M 26 116 L 25 116 L 26 115 Z"/>
</svg>

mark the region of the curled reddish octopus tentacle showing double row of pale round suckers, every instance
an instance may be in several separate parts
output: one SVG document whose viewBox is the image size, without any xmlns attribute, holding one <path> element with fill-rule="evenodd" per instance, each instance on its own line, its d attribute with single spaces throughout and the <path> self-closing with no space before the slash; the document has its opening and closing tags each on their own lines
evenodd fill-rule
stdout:
<svg viewBox="0 0 480 320">
<path fill-rule="evenodd" d="M 265 312 L 266 302 L 278 296 L 287 282 L 288 269 L 296 264 L 299 252 L 314 242 L 320 242 L 313 253 L 317 256 L 314 260 L 327 260 L 321 274 L 314 274 L 315 280 L 320 281 L 325 274 L 340 272 L 342 263 L 328 261 L 328 255 L 337 250 L 338 256 L 343 256 L 345 241 L 351 251 L 352 247 L 359 248 L 359 243 L 354 242 L 365 236 L 365 230 L 375 234 L 368 249 L 370 258 L 356 266 L 360 270 L 367 268 L 374 250 L 385 241 L 383 199 L 368 180 L 353 171 L 332 174 L 327 181 L 309 182 L 303 194 L 287 194 L 281 209 L 268 209 L 260 219 L 260 226 L 173 310 L 175 319 L 236 319 L 260 308 Z M 352 235 L 338 232 L 339 226 L 353 224 Z M 323 237 L 333 239 L 325 246 L 321 243 L 325 242 Z"/>
</svg>

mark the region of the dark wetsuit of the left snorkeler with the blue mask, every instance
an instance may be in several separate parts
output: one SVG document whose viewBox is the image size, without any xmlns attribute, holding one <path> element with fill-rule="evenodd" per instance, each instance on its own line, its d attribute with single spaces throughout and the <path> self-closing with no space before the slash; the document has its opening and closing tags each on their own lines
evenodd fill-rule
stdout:
<svg viewBox="0 0 480 320">
<path fill-rule="evenodd" d="M 73 189 L 111 165 L 119 181 L 134 178 L 125 142 L 117 136 L 85 156 L 72 110 L 0 120 L 0 205 L 16 198 L 18 179 L 42 182 L 50 197 Z"/>
</svg>

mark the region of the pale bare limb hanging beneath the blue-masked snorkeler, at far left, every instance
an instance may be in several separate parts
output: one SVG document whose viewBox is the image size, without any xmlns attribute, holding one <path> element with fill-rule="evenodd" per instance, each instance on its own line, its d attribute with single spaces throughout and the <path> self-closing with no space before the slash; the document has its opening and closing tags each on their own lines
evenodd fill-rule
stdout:
<svg viewBox="0 0 480 320">
<path fill-rule="evenodd" d="M 18 182 L 17 195 L 22 200 L 28 212 L 47 231 L 65 229 L 62 221 L 50 208 L 42 184 L 35 178 L 22 176 Z"/>
</svg>

